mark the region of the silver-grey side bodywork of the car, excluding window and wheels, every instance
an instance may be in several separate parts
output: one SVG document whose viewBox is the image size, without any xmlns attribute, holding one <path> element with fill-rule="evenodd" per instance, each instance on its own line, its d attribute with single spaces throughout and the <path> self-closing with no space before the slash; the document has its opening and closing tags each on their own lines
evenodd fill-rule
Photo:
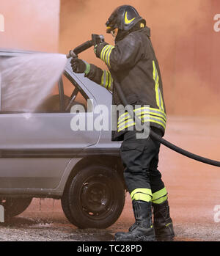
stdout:
<svg viewBox="0 0 220 256">
<path fill-rule="evenodd" d="M 0 49 L 0 56 L 20 54 L 32 52 Z M 110 111 L 111 93 L 84 74 L 73 73 L 70 60 L 65 71 L 92 100 L 86 122 L 101 120 L 100 105 Z M 72 118 L 78 114 L 81 113 L 0 114 L 0 194 L 61 196 L 70 173 L 85 156 L 119 156 L 120 142 L 111 142 L 111 129 L 70 128 Z M 111 128 L 111 114 L 106 118 Z"/>
</svg>

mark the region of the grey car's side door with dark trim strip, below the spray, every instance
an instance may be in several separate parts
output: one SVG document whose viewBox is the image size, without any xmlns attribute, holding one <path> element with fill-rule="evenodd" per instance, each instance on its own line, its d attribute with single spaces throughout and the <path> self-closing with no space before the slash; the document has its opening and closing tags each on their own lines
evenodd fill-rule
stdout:
<svg viewBox="0 0 220 256">
<path fill-rule="evenodd" d="M 73 92 L 78 87 L 76 81 L 70 80 L 69 76 L 63 81 L 64 93 L 66 90 Z M 56 89 L 55 95 L 46 99 L 50 102 L 48 106 L 45 108 L 45 104 L 34 112 L 18 109 L 5 111 L 1 105 L 0 189 L 55 188 L 70 158 L 77 157 L 84 147 L 98 142 L 100 131 L 73 131 L 71 128 L 74 117 L 83 115 L 87 122 L 87 116 L 93 116 L 96 100 L 92 98 L 90 112 L 71 113 L 60 108 L 61 91 L 60 87 Z M 70 103 L 70 97 L 66 96 L 66 102 Z M 82 105 L 89 99 L 81 88 L 77 96 L 73 96 L 81 99 Z M 53 100 L 50 97 L 55 100 L 55 107 L 51 105 Z"/>
</svg>

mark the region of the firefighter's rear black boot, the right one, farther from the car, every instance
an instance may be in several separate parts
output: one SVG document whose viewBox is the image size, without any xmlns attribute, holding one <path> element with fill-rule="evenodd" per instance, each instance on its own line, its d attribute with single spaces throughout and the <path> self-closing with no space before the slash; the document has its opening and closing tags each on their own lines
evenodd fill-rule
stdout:
<svg viewBox="0 0 220 256">
<path fill-rule="evenodd" d="M 172 241 L 175 237 L 172 219 L 169 216 L 169 204 L 166 200 L 161 204 L 153 203 L 153 227 L 157 241 Z"/>
</svg>

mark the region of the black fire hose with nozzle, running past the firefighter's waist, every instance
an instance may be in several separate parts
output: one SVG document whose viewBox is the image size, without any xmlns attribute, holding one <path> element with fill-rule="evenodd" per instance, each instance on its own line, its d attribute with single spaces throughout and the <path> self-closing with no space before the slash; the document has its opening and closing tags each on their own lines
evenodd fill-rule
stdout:
<svg viewBox="0 0 220 256">
<path fill-rule="evenodd" d="M 70 53 L 67 54 L 67 58 L 78 56 L 78 54 L 80 54 L 81 52 L 87 50 L 88 48 L 90 48 L 94 45 L 97 45 L 98 43 L 102 43 L 103 41 L 104 41 L 103 35 L 92 34 L 92 40 L 82 43 L 81 45 L 78 45 L 78 47 L 71 50 Z M 120 87 L 120 84 L 117 81 L 117 77 L 114 76 L 114 73 L 112 75 L 113 75 L 113 79 L 114 79 L 114 87 L 117 91 L 117 94 L 120 97 L 120 100 L 122 100 L 122 104 L 124 106 L 128 106 L 128 101 L 126 100 L 125 95 L 122 92 L 122 88 Z M 131 117 L 133 117 L 133 114 L 134 114 L 135 120 L 136 120 L 136 125 L 138 127 L 140 127 L 140 125 L 144 125 L 144 124 L 142 124 L 142 120 L 140 120 L 139 117 L 136 116 L 135 112 L 133 113 L 132 109 L 128 108 L 128 114 L 130 114 Z M 147 125 L 145 128 L 149 130 Z M 176 145 L 172 144 L 171 142 L 168 142 L 166 139 L 163 139 L 161 136 L 159 136 L 152 130 L 150 130 L 150 136 L 153 139 L 156 139 L 158 142 L 160 142 L 164 146 L 169 147 L 169 149 L 174 150 L 175 152 L 180 153 L 183 156 L 186 156 L 188 158 L 194 159 L 196 161 L 199 161 L 199 162 L 202 162 L 205 164 L 210 164 L 210 165 L 213 165 L 216 167 L 220 167 L 220 161 L 215 161 L 215 160 L 212 160 L 209 158 L 198 156 L 194 153 L 188 152 L 187 150 L 183 150 L 183 148 L 177 147 Z"/>
</svg>

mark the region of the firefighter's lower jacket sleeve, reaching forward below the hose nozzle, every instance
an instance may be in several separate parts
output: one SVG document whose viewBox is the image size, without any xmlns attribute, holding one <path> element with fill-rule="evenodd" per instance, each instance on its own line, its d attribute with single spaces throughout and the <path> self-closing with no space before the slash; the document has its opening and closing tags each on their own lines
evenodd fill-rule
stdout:
<svg viewBox="0 0 220 256">
<path fill-rule="evenodd" d="M 101 70 L 100 67 L 90 64 L 89 73 L 85 76 L 96 84 L 100 84 L 100 86 L 112 91 L 113 79 L 109 70 Z"/>
</svg>

